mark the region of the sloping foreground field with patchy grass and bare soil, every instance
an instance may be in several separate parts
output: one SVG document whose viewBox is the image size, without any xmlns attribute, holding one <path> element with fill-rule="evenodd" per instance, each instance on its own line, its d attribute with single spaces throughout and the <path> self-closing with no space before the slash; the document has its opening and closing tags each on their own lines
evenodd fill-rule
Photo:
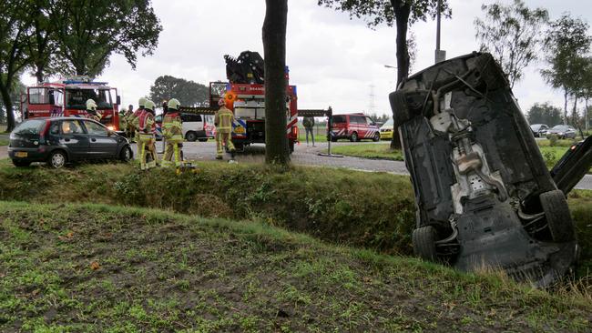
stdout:
<svg viewBox="0 0 592 333">
<path fill-rule="evenodd" d="M 586 331 L 589 298 L 261 223 L 0 202 L 0 330 Z"/>
</svg>

